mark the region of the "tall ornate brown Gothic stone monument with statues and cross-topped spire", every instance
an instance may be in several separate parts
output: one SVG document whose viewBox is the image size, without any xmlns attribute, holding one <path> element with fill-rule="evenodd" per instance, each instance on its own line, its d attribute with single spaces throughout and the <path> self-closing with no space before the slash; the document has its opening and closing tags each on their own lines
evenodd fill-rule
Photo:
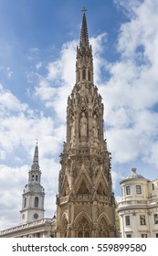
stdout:
<svg viewBox="0 0 158 256">
<path fill-rule="evenodd" d="M 111 155 L 103 103 L 93 84 L 93 58 L 83 10 L 76 84 L 68 97 L 67 142 L 60 155 L 57 237 L 115 237 Z"/>
</svg>

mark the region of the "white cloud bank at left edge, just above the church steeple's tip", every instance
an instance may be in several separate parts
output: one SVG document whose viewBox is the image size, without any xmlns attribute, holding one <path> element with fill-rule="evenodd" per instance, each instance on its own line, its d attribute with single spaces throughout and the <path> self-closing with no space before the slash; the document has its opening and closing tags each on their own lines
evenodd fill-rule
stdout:
<svg viewBox="0 0 158 256">
<path fill-rule="evenodd" d="M 64 139 L 65 125 L 54 126 L 50 117 L 40 115 L 40 112 L 29 109 L 26 103 L 18 101 L 10 91 L 0 87 L 0 152 L 4 159 L 13 154 L 15 148 L 24 147 L 27 154 L 39 139 L 43 155 L 48 152 L 55 154 Z M 16 155 L 17 156 L 17 155 Z"/>
</svg>

